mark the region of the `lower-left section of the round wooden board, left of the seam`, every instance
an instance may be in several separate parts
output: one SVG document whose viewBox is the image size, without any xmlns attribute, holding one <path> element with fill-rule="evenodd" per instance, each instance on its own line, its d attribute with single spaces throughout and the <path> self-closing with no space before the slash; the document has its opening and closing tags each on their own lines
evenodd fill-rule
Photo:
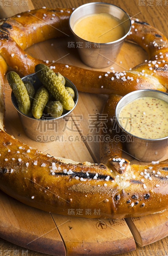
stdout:
<svg viewBox="0 0 168 256">
<path fill-rule="evenodd" d="M 22 204 L 1 191 L 0 209 L 0 234 L 3 239 L 34 251 L 66 255 L 64 244 L 49 212 Z"/>
</svg>

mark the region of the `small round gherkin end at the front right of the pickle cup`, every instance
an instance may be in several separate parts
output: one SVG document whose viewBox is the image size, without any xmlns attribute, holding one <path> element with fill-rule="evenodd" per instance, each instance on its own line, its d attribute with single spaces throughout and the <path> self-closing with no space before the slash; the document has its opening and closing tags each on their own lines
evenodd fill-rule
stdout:
<svg viewBox="0 0 168 256">
<path fill-rule="evenodd" d="M 63 107 L 60 101 L 48 101 L 44 111 L 56 118 L 62 115 Z"/>
</svg>

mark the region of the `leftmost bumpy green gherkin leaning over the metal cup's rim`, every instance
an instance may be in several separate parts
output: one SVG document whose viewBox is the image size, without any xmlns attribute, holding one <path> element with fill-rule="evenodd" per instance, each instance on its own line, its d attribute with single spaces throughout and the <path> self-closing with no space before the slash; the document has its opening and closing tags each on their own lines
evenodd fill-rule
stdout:
<svg viewBox="0 0 168 256">
<path fill-rule="evenodd" d="M 23 114 L 29 116 L 31 113 L 31 103 L 29 100 L 28 92 L 27 92 L 20 76 L 16 72 L 10 71 L 7 74 L 7 79 L 8 79 L 8 83 L 12 89 L 12 92 L 14 93 L 14 95 L 16 97 L 19 110 Z"/>
</svg>

